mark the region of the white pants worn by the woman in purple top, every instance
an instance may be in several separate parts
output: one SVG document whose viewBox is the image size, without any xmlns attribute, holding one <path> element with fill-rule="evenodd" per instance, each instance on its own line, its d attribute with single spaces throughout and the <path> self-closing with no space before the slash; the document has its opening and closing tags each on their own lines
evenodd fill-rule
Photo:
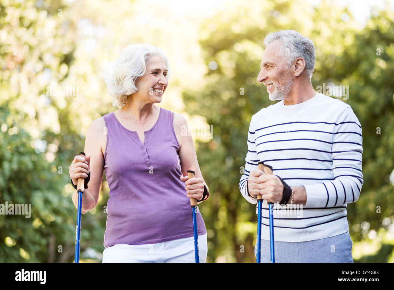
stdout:
<svg viewBox="0 0 394 290">
<path fill-rule="evenodd" d="M 208 253 L 206 234 L 198 236 L 200 263 Z M 116 244 L 104 249 L 103 263 L 195 263 L 194 238 L 182 238 L 158 244 Z"/>
</svg>

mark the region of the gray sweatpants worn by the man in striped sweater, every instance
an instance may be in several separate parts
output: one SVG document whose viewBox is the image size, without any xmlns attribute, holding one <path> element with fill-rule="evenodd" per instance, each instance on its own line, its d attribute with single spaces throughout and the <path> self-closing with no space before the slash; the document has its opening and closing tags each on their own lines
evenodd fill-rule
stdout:
<svg viewBox="0 0 394 290">
<path fill-rule="evenodd" d="M 274 242 L 275 263 L 353 263 L 349 232 L 307 242 Z M 255 256 L 257 255 L 257 243 Z M 268 240 L 261 240 L 261 262 L 270 263 Z"/>
</svg>

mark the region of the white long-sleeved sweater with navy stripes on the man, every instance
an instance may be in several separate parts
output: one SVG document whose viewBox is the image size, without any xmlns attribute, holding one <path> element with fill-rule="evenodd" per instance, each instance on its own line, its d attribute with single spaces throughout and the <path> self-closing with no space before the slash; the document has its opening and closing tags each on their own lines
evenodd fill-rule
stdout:
<svg viewBox="0 0 394 290">
<path fill-rule="evenodd" d="M 275 241 L 305 242 L 349 231 L 346 204 L 359 199 L 363 149 L 361 125 L 348 104 L 322 93 L 295 105 L 281 100 L 252 116 L 247 147 L 239 188 L 249 203 L 257 203 L 247 193 L 247 179 L 259 161 L 307 192 L 298 211 L 274 205 Z M 269 240 L 266 201 L 262 208 L 262 238 Z"/>
</svg>

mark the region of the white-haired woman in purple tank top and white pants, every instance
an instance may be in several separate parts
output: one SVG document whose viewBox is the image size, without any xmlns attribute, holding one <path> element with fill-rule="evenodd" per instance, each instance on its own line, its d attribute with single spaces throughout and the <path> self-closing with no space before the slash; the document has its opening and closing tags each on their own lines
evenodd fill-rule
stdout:
<svg viewBox="0 0 394 290">
<path fill-rule="evenodd" d="M 73 185 L 91 175 L 82 213 L 97 205 L 105 171 L 110 198 L 103 263 L 195 261 L 190 198 L 201 202 L 209 193 L 193 140 L 181 134 L 186 119 L 155 105 L 163 99 L 169 74 L 162 50 L 128 46 L 107 81 L 119 109 L 90 124 L 86 158 L 75 156 L 70 166 Z M 195 178 L 188 179 L 188 170 Z M 72 201 L 77 206 L 77 191 Z M 206 229 L 199 212 L 197 227 L 200 262 L 205 262 Z"/>
</svg>

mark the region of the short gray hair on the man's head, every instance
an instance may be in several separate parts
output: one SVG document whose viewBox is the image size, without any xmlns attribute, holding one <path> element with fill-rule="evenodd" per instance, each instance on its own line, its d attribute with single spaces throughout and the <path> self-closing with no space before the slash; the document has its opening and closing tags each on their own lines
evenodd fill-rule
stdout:
<svg viewBox="0 0 394 290">
<path fill-rule="evenodd" d="M 279 30 L 274 33 L 269 33 L 264 38 L 264 46 L 269 45 L 272 41 L 279 39 L 282 42 L 281 52 L 288 67 L 296 58 L 303 58 L 305 60 L 305 70 L 309 78 L 312 78 L 315 69 L 315 46 L 313 42 L 294 30 Z"/>
</svg>

